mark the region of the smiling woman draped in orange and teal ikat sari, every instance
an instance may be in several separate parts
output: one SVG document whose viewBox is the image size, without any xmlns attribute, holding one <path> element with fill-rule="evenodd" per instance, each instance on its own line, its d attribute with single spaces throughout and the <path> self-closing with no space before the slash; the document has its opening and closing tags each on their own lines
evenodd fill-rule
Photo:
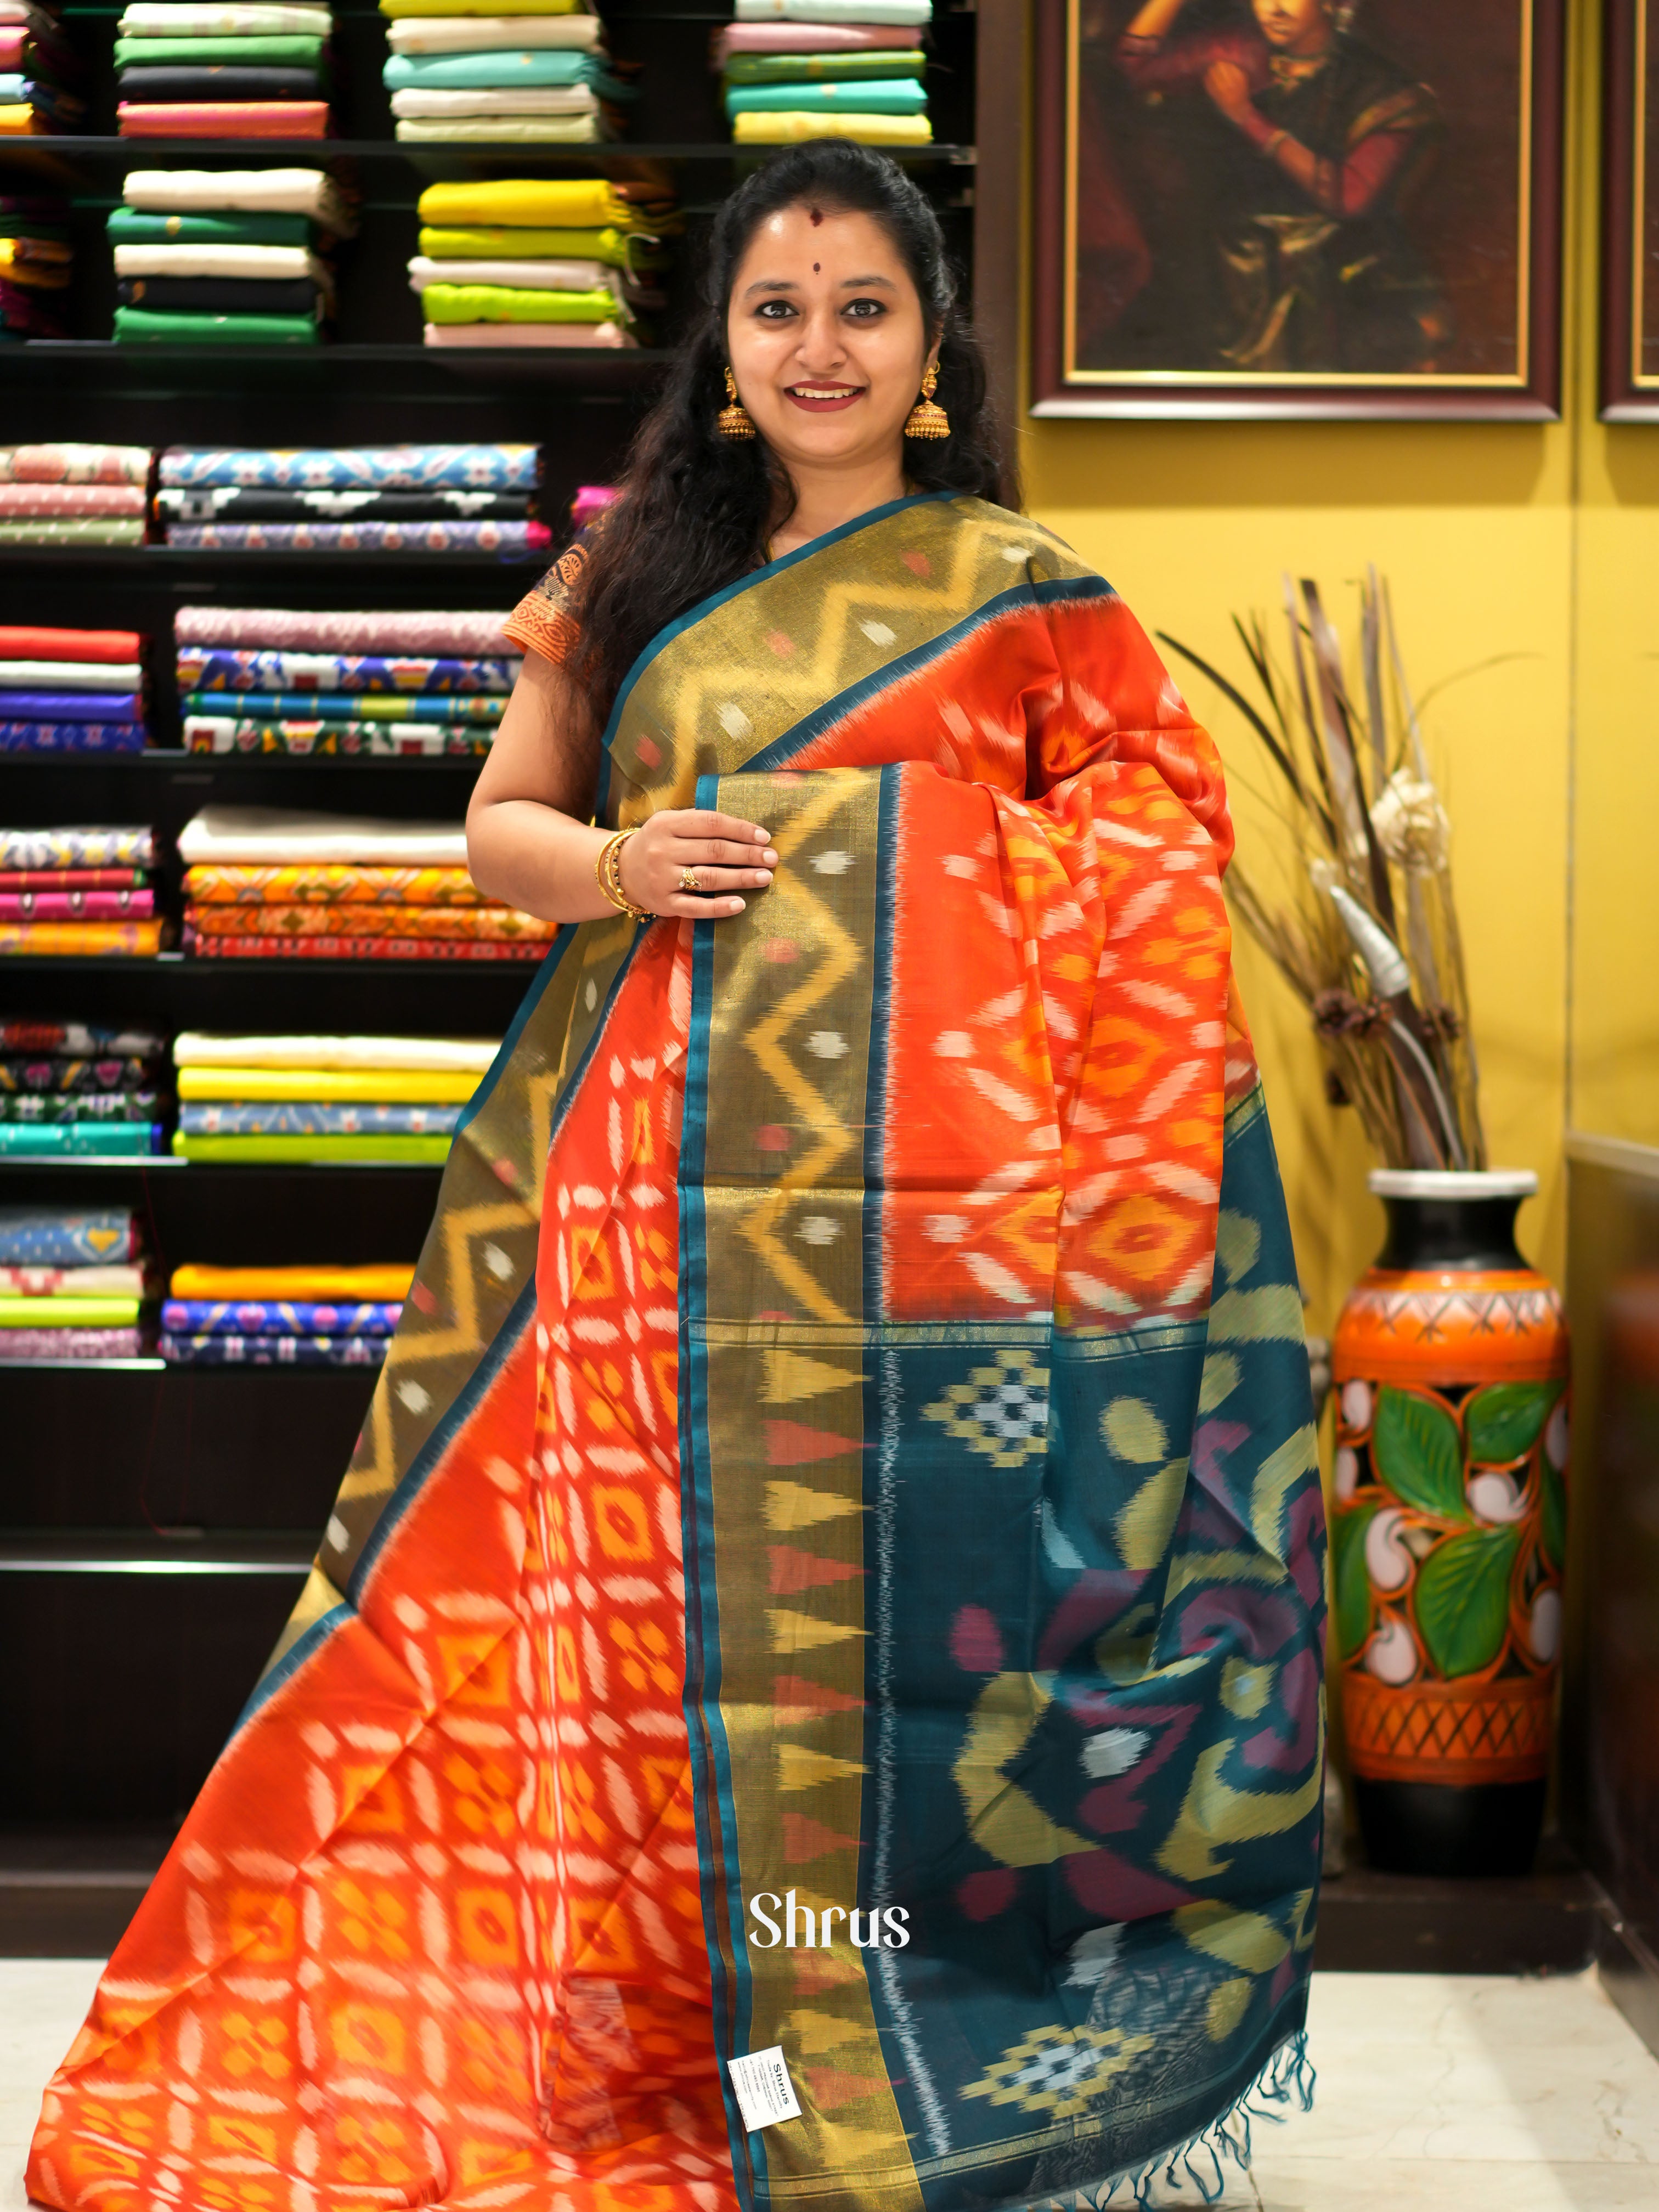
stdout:
<svg viewBox="0 0 1659 2212">
<path fill-rule="evenodd" d="M 781 155 L 513 617 L 473 869 L 566 927 L 44 2203 L 1022 2203 L 1298 2077 L 1323 1537 L 1221 776 L 993 480 L 925 199 Z"/>
</svg>

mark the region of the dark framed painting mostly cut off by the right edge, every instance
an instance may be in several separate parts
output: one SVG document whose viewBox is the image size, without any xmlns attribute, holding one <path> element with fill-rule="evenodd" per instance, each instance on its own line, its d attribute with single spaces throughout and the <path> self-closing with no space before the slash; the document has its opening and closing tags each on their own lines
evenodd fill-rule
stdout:
<svg viewBox="0 0 1659 2212">
<path fill-rule="evenodd" d="M 1608 0 L 1601 420 L 1659 422 L 1659 0 Z"/>
</svg>

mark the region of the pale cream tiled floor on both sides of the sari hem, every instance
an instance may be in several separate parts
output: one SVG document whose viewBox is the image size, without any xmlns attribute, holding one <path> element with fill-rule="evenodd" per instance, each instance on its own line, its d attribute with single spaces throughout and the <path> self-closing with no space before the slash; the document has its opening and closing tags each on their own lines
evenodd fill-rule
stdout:
<svg viewBox="0 0 1659 2212">
<path fill-rule="evenodd" d="M 22 2212 L 40 2088 L 95 1980 L 0 1960 L 0 2212 Z M 1316 1975 L 1312 2051 L 1314 2112 L 1254 2130 L 1230 2212 L 1659 2212 L 1659 2059 L 1593 1973 Z"/>
</svg>

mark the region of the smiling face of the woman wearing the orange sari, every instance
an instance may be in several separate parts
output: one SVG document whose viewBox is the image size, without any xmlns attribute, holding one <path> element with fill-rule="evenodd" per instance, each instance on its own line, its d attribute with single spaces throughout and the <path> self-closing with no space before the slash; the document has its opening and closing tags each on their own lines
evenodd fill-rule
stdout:
<svg viewBox="0 0 1659 2212">
<path fill-rule="evenodd" d="M 900 458 L 929 341 L 874 217 L 768 217 L 732 281 L 726 345 L 739 398 L 790 471 Z"/>
</svg>

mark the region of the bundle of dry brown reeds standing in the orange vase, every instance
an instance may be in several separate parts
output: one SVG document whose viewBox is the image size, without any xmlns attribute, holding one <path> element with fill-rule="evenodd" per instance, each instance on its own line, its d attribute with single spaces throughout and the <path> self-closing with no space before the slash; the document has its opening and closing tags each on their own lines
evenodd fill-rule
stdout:
<svg viewBox="0 0 1659 2212">
<path fill-rule="evenodd" d="M 1290 672 L 1259 615 L 1234 630 L 1263 708 L 1159 630 L 1239 708 L 1272 763 L 1290 849 L 1270 894 L 1237 858 L 1228 900 L 1307 1006 L 1332 1099 L 1352 1102 L 1391 1168 L 1484 1168 L 1451 825 L 1394 637 L 1387 584 L 1360 586 L 1358 688 L 1318 586 L 1285 577 Z"/>
</svg>

